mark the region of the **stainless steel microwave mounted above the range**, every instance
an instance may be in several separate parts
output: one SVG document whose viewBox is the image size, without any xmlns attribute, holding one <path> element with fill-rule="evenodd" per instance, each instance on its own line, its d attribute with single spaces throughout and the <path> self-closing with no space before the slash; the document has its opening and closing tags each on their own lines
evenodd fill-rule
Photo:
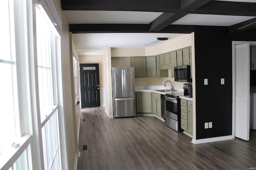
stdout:
<svg viewBox="0 0 256 170">
<path fill-rule="evenodd" d="M 176 82 L 192 82 L 190 65 L 182 65 L 174 67 L 174 81 Z"/>
</svg>

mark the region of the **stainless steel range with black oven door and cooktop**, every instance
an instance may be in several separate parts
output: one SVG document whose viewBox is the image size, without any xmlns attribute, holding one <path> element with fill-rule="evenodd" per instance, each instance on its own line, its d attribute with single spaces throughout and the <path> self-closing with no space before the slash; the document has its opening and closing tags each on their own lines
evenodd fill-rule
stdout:
<svg viewBox="0 0 256 170">
<path fill-rule="evenodd" d="M 183 131 L 180 127 L 180 98 L 184 93 L 172 93 L 165 96 L 166 125 L 177 132 Z"/>
</svg>

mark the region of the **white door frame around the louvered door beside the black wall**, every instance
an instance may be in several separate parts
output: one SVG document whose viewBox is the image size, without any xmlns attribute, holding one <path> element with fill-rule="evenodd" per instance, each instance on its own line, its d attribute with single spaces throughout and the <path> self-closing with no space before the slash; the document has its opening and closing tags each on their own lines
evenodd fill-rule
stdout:
<svg viewBox="0 0 256 170">
<path fill-rule="evenodd" d="M 235 138 L 235 45 L 249 43 L 256 45 L 256 41 L 232 41 L 232 136 Z M 249 68 L 250 69 L 250 68 Z"/>
</svg>

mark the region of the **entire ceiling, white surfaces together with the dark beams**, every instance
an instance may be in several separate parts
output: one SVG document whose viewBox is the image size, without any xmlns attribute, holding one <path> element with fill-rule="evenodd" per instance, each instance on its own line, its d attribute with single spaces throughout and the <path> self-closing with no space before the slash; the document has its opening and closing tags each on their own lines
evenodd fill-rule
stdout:
<svg viewBox="0 0 256 170">
<path fill-rule="evenodd" d="M 97 55 L 105 47 L 145 48 L 157 37 L 172 41 L 192 33 L 194 25 L 226 26 L 230 33 L 256 27 L 256 0 L 60 1 L 78 55 Z"/>
</svg>

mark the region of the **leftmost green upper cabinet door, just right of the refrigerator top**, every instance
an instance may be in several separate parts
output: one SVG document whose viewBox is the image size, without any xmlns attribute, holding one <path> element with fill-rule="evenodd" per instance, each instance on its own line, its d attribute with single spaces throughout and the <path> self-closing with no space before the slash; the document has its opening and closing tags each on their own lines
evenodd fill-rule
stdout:
<svg viewBox="0 0 256 170">
<path fill-rule="evenodd" d="M 135 77 L 145 77 L 146 74 L 146 57 L 133 57 Z"/>
</svg>

